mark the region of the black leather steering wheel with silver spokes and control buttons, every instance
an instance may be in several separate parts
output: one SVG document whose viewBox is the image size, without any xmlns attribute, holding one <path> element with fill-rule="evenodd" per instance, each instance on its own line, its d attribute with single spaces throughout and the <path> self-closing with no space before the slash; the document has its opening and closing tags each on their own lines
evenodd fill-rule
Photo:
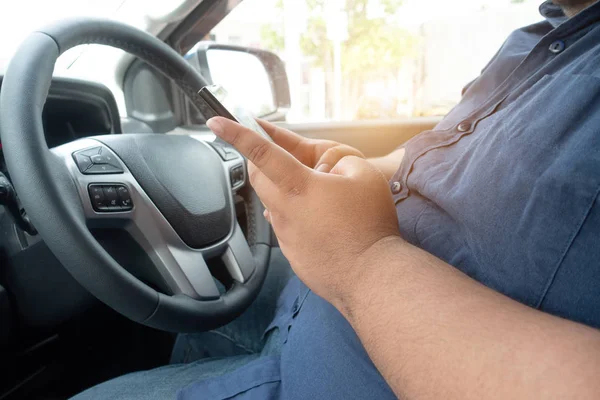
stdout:
<svg viewBox="0 0 600 400">
<path fill-rule="evenodd" d="M 104 44 L 152 65 L 205 116 L 207 82 L 153 36 L 118 22 L 67 20 L 27 37 L 2 83 L 0 129 L 13 184 L 47 246 L 95 297 L 124 316 L 173 332 L 214 329 L 240 315 L 264 282 L 270 228 L 246 184 L 244 158 L 186 135 L 122 134 L 49 149 L 42 109 L 58 56 Z M 243 195 L 248 239 L 235 214 Z M 90 228 L 127 230 L 151 260 L 156 290 L 123 268 Z M 218 289 L 207 261 L 233 282 Z M 215 273 L 215 275 L 217 275 Z"/>
</svg>

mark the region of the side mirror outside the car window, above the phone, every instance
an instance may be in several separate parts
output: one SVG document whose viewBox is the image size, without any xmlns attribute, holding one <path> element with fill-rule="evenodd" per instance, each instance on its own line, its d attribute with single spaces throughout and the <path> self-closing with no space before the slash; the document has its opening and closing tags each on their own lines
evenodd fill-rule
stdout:
<svg viewBox="0 0 600 400">
<path fill-rule="evenodd" d="M 185 59 L 211 84 L 223 86 L 254 115 L 285 119 L 290 87 L 283 61 L 274 53 L 249 47 L 199 42 Z M 204 118 L 189 107 L 192 123 Z"/>
</svg>

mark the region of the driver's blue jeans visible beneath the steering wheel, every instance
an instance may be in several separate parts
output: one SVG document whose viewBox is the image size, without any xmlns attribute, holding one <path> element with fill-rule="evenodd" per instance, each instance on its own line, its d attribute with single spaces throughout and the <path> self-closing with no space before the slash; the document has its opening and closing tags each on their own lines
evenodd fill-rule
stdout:
<svg viewBox="0 0 600 400">
<path fill-rule="evenodd" d="M 294 273 L 279 249 L 272 250 L 269 263 L 261 292 L 238 319 L 214 331 L 180 334 L 171 365 L 112 379 L 74 399 L 174 399 L 179 389 L 195 381 L 226 374 L 259 357 L 278 354 L 277 329 L 263 334 L 273 319 L 281 290 Z"/>
</svg>

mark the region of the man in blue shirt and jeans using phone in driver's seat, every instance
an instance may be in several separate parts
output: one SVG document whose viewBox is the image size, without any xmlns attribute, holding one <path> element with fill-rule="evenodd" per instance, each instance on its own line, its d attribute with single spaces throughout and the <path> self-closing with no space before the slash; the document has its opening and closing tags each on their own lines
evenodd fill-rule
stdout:
<svg viewBox="0 0 600 400">
<path fill-rule="evenodd" d="M 597 398 L 600 332 L 556 316 L 600 326 L 600 3 L 555 3 L 390 156 L 209 121 L 248 157 L 299 279 L 264 342 L 246 317 L 214 333 L 237 348 L 221 356 L 252 354 L 82 396 Z M 184 357 L 215 351 L 203 340 Z"/>
</svg>

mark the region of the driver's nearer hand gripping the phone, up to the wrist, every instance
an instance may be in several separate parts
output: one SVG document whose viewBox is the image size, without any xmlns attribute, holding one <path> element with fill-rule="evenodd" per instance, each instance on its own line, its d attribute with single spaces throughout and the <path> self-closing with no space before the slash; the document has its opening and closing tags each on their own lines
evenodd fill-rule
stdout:
<svg viewBox="0 0 600 400">
<path fill-rule="evenodd" d="M 399 236 L 387 181 L 364 159 L 344 156 L 323 173 L 310 168 L 319 153 L 302 150 L 305 144 L 288 132 L 274 135 L 284 149 L 225 118 L 207 125 L 248 158 L 250 182 L 270 212 L 282 252 L 298 277 L 334 305 L 360 280 L 365 252 Z"/>
</svg>

